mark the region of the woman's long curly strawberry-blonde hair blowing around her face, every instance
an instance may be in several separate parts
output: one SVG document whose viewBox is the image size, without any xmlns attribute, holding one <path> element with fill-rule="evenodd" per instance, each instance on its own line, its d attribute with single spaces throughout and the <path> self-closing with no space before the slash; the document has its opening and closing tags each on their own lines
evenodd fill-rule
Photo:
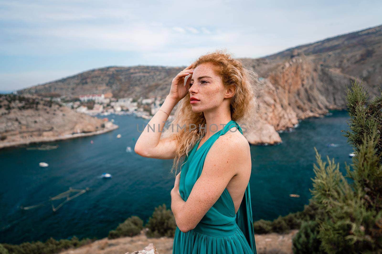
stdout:
<svg viewBox="0 0 382 254">
<path fill-rule="evenodd" d="M 231 56 L 232 54 L 228 54 L 226 51 L 215 50 L 213 53 L 202 55 L 193 62 L 191 68 L 196 68 L 196 66 L 207 62 L 216 66 L 215 69 L 220 77 L 222 77 L 223 85 L 227 88 L 233 85 L 236 88 L 234 96 L 231 97 L 231 119 L 240 126 L 242 124 L 246 126 L 242 128 L 243 133 L 248 130 L 253 131 L 256 128 L 257 96 L 262 88 L 262 83 L 258 80 L 259 76 L 253 69 L 244 66 L 240 60 L 234 59 Z M 193 112 L 189 98 L 190 94 L 187 93 L 178 102 L 173 121 L 171 121 L 173 127 L 165 129 L 161 135 L 161 138 L 171 137 L 178 144 L 170 171 L 170 173 L 173 173 L 175 169 L 175 175 L 177 174 L 176 169 L 178 168 L 179 161 L 183 158 L 185 159 L 181 165 L 183 166 L 196 142 L 206 135 L 206 129 L 199 128 L 199 126 L 206 125 L 206 118 L 203 112 Z M 177 125 L 180 127 L 184 126 L 184 131 L 176 133 L 173 133 L 173 130 L 170 131 L 171 129 L 177 129 Z"/>
</svg>

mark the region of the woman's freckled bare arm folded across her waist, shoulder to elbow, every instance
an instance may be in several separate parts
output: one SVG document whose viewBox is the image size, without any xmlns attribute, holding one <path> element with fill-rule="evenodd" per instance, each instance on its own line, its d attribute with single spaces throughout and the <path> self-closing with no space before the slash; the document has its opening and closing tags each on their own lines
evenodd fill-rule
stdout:
<svg viewBox="0 0 382 254">
<path fill-rule="evenodd" d="M 187 201 L 183 201 L 179 190 L 171 191 L 171 209 L 176 225 L 182 232 L 194 229 L 207 211 L 222 195 L 224 189 L 245 163 L 248 141 L 233 139 L 230 135 L 220 136 L 210 148 L 200 177 L 195 182 Z"/>
</svg>

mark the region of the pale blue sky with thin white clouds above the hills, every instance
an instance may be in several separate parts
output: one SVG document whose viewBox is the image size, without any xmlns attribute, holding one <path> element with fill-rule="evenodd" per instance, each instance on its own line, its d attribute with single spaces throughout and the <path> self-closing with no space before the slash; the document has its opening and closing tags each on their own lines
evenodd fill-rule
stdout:
<svg viewBox="0 0 382 254">
<path fill-rule="evenodd" d="M 87 70 L 259 58 L 382 24 L 379 1 L 0 0 L 0 91 Z"/>
</svg>

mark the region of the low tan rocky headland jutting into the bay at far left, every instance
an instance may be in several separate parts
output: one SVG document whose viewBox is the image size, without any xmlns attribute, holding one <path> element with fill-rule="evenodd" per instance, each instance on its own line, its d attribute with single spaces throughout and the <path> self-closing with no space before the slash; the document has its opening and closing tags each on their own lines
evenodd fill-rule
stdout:
<svg viewBox="0 0 382 254">
<path fill-rule="evenodd" d="M 0 94 L 0 116 L 0 148 L 66 139 L 116 127 L 54 101 L 13 94 Z"/>
</svg>

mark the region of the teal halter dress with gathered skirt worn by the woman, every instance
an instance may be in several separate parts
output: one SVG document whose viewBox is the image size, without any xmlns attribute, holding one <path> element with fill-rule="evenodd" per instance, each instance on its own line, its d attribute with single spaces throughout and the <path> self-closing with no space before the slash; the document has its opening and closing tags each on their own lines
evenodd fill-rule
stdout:
<svg viewBox="0 0 382 254">
<path fill-rule="evenodd" d="M 204 160 L 212 144 L 233 126 L 243 134 L 238 123 L 231 120 L 197 149 L 199 140 L 188 158 L 185 158 L 186 163 L 182 166 L 179 182 L 179 193 L 184 201 L 187 201 L 196 180 L 202 173 Z M 233 200 L 225 188 L 194 229 L 183 233 L 176 227 L 172 253 L 256 254 L 249 183 L 236 214 Z"/>
</svg>

